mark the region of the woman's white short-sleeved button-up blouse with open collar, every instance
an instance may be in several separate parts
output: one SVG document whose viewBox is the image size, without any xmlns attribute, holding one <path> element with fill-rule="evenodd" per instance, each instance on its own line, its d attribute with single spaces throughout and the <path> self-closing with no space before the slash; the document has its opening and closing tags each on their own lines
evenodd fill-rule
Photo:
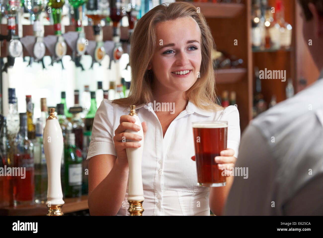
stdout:
<svg viewBox="0 0 323 238">
<path fill-rule="evenodd" d="M 153 104 L 141 104 L 135 108 L 141 122 L 148 130 L 144 139 L 142 158 L 142 183 L 144 190 L 144 216 L 160 215 L 210 215 L 208 187 L 197 185 L 196 162 L 192 122 L 228 121 L 227 147 L 238 157 L 240 143 L 239 112 L 229 106 L 217 112 L 197 108 L 190 100 L 169 125 L 163 138 L 161 124 L 153 110 Z M 103 99 L 94 118 L 87 159 L 98 154 L 117 156 L 114 148 L 114 131 L 120 117 L 128 115 L 130 107 L 122 107 Z M 117 215 L 129 216 L 129 179 L 124 202 Z"/>
</svg>

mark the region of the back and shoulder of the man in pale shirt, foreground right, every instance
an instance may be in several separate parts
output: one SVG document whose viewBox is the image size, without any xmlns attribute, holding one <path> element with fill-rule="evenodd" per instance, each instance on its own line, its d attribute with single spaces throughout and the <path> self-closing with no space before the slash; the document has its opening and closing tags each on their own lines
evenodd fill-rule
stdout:
<svg viewBox="0 0 323 238">
<path fill-rule="evenodd" d="M 323 79 L 243 133 L 224 215 L 323 215 Z"/>
</svg>

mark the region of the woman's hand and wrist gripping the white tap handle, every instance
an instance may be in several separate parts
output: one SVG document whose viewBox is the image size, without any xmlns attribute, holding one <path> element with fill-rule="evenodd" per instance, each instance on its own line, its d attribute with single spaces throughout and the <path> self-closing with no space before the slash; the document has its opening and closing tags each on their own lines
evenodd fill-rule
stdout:
<svg viewBox="0 0 323 238">
<path fill-rule="evenodd" d="M 126 153 L 126 148 L 138 148 L 140 147 L 140 143 L 137 142 L 126 142 L 126 139 L 141 141 L 142 138 L 139 135 L 135 135 L 130 132 L 125 132 L 126 129 L 139 131 L 140 127 L 135 124 L 136 120 L 130 115 L 122 115 L 120 117 L 120 125 L 114 131 L 115 136 L 113 137 L 114 147 L 117 152 L 117 158 L 119 163 L 128 165 L 128 158 Z M 144 138 L 146 136 L 146 132 L 148 130 L 146 122 L 141 123 Z"/>
</svg>

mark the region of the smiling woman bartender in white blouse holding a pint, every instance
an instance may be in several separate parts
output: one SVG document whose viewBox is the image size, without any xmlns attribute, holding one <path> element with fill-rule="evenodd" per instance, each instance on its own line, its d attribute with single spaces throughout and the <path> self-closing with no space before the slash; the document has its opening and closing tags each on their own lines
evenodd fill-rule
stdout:
<svg viewBox="0 0 323 238">
<path fill-rule="evenodd" d="M 215 103 L 215 45 L 202 13 L 185 2 L 156 6 L 140 18 L 130 45 L 129 97 L 103 99 L 93 123 L 87 157 L 90 214 L 130 215 L 125 148 L 139 143 L 125 139 L 143 138 L 124 131 L 139 130 L 128 115 L 130 105 L 136 105 L 144 131 L 143 215 L 209 216 L 210 209 L 221 215 L 233 178 L 228 176 L 224 187 L 197 185 L 192 122 L 228 121 L 228 148 L 216 162 L 219 169 L 234 167 L 239 112 Z M 159 103 L 169 107 L 160 108 Z"/>
</svg>

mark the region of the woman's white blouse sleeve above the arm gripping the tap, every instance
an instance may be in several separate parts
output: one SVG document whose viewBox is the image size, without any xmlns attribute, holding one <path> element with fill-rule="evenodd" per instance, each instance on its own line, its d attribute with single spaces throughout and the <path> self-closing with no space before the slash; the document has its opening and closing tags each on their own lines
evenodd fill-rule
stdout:
<svg viewBox="0 0 323 238">
<path fill-rule="evenodd" d="M 103 99 L 95 113 L 87 160 L 99 154 L 112 154 L 117 156 L 113 143 L 114 121 L 115 116 L 112 102 Z"/>
</svg>

